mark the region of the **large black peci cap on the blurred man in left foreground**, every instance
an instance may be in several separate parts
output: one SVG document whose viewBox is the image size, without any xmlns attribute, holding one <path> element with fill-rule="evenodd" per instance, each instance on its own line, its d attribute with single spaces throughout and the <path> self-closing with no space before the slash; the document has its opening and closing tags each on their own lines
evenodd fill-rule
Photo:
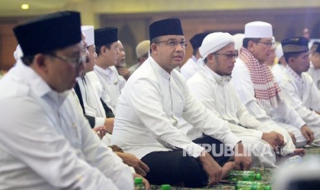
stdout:
<svg viewBox="0 0 320 190">
<path fill-rule="evenodd" d="M 50 52 L 81 42 L 79 12 L 46 14 L 13 29 L 23 56 Z"/>
</svg>

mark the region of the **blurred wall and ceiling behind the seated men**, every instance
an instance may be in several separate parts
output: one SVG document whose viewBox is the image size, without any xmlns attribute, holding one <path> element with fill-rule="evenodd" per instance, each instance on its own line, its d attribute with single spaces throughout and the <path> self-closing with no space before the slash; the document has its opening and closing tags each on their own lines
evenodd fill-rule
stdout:
<svg viewBox="0 0 320 190">
<path fill-rule="evenodd" d="M 127 66 L 136 63 L 136 45 L 149 39 L 149 24 L 159 19 L 179 18 L 187 40 L 199 32 L 243 33 L 250 21 L 271 23 L 276 41 L 303 36 L 304 28 L 310 39 L 320 39 L 319 0 L 0 0 L 0 70 L 15 63 L 17 41 L 12 28 L 58 10 L 81 12 L 83 25 L 118 27 Z M 189 45 L 184 62 L 191 54 Z"/>
</svg>

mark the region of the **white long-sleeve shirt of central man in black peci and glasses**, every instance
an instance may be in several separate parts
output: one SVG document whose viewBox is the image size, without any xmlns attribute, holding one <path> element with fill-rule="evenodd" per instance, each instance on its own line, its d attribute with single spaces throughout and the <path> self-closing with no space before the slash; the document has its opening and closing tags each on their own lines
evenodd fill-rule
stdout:
<svg viewBox="0 0 320 190">
<path fill-rule="evenodd" d="M 204 148 L 177 129 L 180 118 L 231 148 L 239 142 L 226 121 L 193 98 L 177 70 L 169 74 L 150 56 L 122 89 L 111 144 L 138 158 L 175 148 L 196 158 Z"/>
</svg>

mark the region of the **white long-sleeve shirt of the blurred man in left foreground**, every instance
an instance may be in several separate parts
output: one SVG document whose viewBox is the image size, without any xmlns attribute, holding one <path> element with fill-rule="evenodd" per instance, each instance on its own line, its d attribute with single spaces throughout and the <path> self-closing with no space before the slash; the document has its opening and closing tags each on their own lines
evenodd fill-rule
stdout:
<svg viewBox="0 0 320 190">
<path fill-rule="evenodd" d="M 0 92 L 0 189 L 134 189 L 70 91 L 53 91 L 19 60 Z"/>
</svg>

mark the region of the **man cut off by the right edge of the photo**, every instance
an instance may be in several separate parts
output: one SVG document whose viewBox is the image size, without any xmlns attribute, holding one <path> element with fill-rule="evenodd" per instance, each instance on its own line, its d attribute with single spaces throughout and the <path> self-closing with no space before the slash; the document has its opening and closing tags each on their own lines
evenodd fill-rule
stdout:
<svg viewBox="0 0 320 190">
<path fill-rule="evenodd" d="M 310 47 L 310 68 L 308 74 L 312 77 L 314 84 L 320 89 L 320 42 L 314 41 Z"/>
</svg>

